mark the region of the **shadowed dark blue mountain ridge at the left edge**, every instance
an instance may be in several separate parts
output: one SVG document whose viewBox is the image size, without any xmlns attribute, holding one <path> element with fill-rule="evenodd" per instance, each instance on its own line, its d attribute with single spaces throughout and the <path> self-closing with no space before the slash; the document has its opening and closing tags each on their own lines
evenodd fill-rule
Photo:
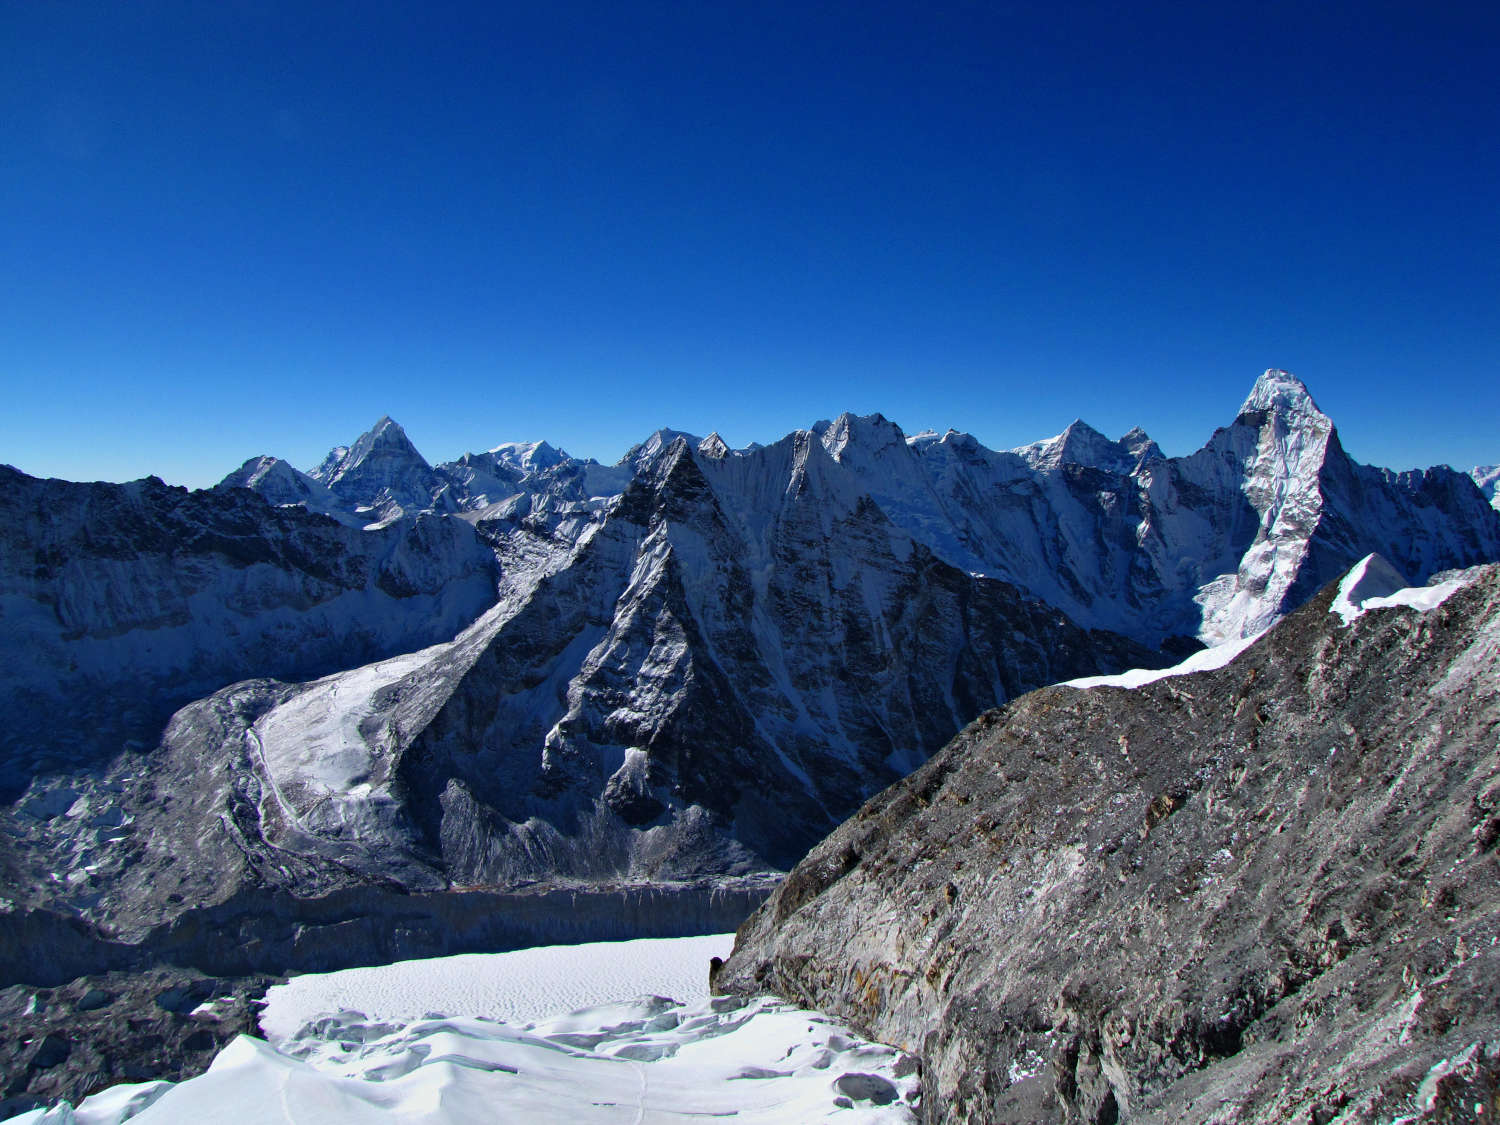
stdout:
<svg viewBox="0 0 1500 1125">
<path fill-rule="evenodd" d="M 0 466 L 0 798 L 147 750 L 172 710 L 236 680 L 447 640 L 494 603 L 495 574 L 454 520 L 362 532 L 243 489 Z"/>
</svg>

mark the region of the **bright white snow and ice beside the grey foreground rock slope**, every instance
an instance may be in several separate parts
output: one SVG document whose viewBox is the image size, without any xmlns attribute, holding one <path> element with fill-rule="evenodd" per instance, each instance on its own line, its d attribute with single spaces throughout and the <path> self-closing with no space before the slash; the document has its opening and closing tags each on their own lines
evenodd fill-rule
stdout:
<svg viewBox="0 0 1500 1125">
<path fill-rule="evenodd" d="M 240 1036 L 196 1078 L 112 1088 L 12 1125 L 198 1125 L 231 1107 L 246 1125 L 915 1120 L 910 1058 L 780 1000 L 708 999 L 706 956 L 730 944 L 556 946 L 297 978 L 270 998 L 272 1042 Z M 676 999 L 654 994 L 663 984 Z M 588 992 L 596 1006 L 542 1014 Z M 346 1000 L 362 1011 L 339 1010 Z M 510 1022 L 484 1017 L 496 1012 Z"/>
</svg>

